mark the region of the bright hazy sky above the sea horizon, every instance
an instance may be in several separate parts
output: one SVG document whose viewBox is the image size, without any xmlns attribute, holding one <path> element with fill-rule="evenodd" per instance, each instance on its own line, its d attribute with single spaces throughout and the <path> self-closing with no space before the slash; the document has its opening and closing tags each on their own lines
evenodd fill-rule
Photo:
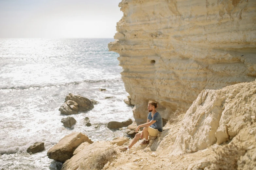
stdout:
<svg viewBox="0 0 256 170">
<path fill-rule="evenodd" d="M 0 0 L 0 38 L 112 38 L 121 0 Z"/>
</svg>

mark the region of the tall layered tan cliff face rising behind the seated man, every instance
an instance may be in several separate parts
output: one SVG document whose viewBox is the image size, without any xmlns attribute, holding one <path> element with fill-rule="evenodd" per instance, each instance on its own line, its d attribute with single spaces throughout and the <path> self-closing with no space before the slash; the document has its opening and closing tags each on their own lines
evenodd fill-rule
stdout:
<svg viewBox="0 0 256 170">
<path fill-rule="evenodd" d="M 122 79 L 136 122 L 157 101 L 162 118 L 191 106 L 204 89 L 256 76 L 255 0 L 122 0 L 118 41 Z"/>
</svg>

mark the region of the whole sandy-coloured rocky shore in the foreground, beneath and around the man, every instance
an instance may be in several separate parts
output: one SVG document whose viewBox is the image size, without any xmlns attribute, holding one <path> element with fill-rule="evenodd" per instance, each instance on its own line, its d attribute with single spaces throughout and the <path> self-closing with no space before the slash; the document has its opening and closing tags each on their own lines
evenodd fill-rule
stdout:
<svg viewBox="0 0 256 170">
<path fill-rule="evenodd" d="M 104 163 L 98 166 L 100 169 L 111 170 L 253 169 L 255 92 L 256 81 L 203 90 L 186 111 L 173 113 L 160 136 L 149 136 L 148 145 L 140 146 L 137 142 L 127 152 L 118 149 L 131 142 L 126 137 L 92 142 L 85 134 L 73 132 L 49 149 L 47 156 L 62 162 L 61 170 L 93 166 L 91 158 Z M 129 130 L 135 126 L 130 124 Z M 111 159 L 106 156 L 110 153 Z"/>
</svg>

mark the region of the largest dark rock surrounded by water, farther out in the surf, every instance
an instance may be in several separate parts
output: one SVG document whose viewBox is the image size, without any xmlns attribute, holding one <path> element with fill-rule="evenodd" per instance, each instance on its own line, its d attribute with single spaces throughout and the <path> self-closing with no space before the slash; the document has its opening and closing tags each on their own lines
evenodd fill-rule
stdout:
<svg viewBox="0 0 256 170">
<path fill-rule="evenodd" d="M 61 114 L 72 115 L 77 114 L 79 111 L 88 111 L 93 108 L 93 103 L 86 97 L 69 93 L 59 111 Z"/>
</svg>

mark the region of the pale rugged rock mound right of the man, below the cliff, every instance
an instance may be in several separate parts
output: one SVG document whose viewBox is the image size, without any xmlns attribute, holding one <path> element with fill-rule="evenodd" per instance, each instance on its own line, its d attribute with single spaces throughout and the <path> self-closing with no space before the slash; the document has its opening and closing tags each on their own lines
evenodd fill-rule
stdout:
<svg viewBox="0 0 256 170">
<path fill-rule="evenodd" d="M 233 139 L 255 122 L 255 103 L 256 81 L 203 90 L 181 122 L 172 154 L 196 152 Z"/>
</svg>

